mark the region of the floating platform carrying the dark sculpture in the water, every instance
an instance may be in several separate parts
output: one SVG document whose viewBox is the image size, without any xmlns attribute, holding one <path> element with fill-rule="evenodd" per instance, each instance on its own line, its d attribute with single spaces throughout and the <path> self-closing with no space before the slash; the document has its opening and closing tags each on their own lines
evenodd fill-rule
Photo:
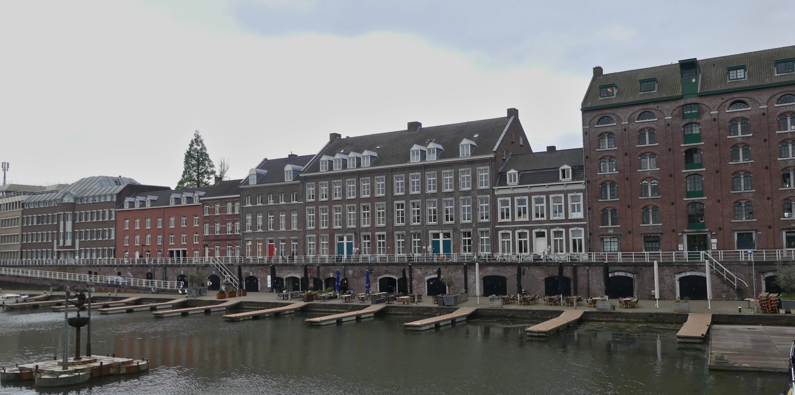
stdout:
<svg viewBox="0 0 795 395">
<path fill-rule="evenodd" d="M 149 360 L 145 358 L 118 358 L 105 355 L 91 355 L 78 360 L 69 358 L 66 370 L 61 368 L 62 362 L 62 359 L 53 359 L 2 368 L 0 381 L 35 380 L 38 386 L 57 387 L 80 384 L 91 378 L 111 374 L 133 374 L 149 370 Z"/>
</svg>

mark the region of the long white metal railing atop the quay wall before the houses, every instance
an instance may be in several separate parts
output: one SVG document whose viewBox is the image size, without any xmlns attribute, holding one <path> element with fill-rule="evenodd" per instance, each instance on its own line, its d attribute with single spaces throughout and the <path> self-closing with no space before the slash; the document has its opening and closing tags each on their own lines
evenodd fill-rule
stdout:
<svg viewBox="0 0 795 395">
<path fill-rule="evenodd" d="M 709 254 L 716 261 L 795 261 L 792 250 L 712 250 Z M 657 252 L 615 252 L 615 253 L 545 253 L 545 254 L 382 254 L 382 255 L 311 255 L 311 256 L 273 256 L 273 257 L 219 257 L 219 258 L 83 258 L 83 259 L 5 259 L 0 266 L 63 266 L 63 265 L 143 265 L 180 266 L 207 265 L 218 262 L 223 265 L 270 265 L 270 264 L 343 264 L 343 263 L 436 263 L 452 262 L 697 262 L 701 261 L 702 251 L 657 251 Z M 217 261 L 217 262 L 215 262 Z M 215 262 L 215 263 L 214 263 Z M 234 273 L 233 273 L 234 274 Z M 234 276 L 233 276 L 234 277 Z"/>
</svg>

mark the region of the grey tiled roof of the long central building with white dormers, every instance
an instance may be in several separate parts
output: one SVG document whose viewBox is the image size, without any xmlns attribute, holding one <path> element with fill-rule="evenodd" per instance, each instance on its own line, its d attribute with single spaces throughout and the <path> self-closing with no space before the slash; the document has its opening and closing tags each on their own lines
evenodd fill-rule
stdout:
<svg viewBox="0 0 795 395">
<path fill-rule="evenodd" d="M 409 151 L 415 144 L 427 146 L 431 141 L 441 145 L 443 150 L 437 159 L 459 157 L 459 143 L 467 138 L 475 141 L 477 148 L 472 156 L 491 154 L 510 117 L 483 119 L 480 121 L 454 123 L 451 125 L 427 126 L 420 130 L 397 130 L 394 132 L 366 134 L 364 136 L 344 137 L 331 141 L 317 155 L 315 161 L 304 172 L 319 172 L 320 157 L 334 157 L 338 153 L 362 153 L 370 150 L 378 153 L 372 166 L 409 164 Z M 475 137 L 477 135 L 477 137 Z M 329 172 L 333 172 L 330 170 Z"/>
</svg>

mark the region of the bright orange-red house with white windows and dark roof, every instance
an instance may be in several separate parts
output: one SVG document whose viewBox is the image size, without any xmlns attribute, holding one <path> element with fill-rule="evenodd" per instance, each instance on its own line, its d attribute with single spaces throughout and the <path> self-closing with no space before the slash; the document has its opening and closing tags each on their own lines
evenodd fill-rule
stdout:
<svg viewBox="0 0 795 395">
<path fill-rule="evenodd" d="M 116 258 L 201 257 L 201 197 L 211 188 L 145 192 L 123 199 L 116 209 Z"/>
</svg>

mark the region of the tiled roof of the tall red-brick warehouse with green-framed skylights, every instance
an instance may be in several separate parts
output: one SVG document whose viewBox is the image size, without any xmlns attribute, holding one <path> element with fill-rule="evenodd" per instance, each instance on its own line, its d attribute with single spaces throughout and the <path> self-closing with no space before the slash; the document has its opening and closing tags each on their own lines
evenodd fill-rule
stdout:
<svg viewBox="0 0 795 395">
<path fill-rule="evenodd" d="M 700 69 L 699 93 L 708 94 L 726 89 L 754 87 L 768 83 L 795 83 L 795 73 L 776 76 L 775 60 L 795 57 L 795 46 L 765 49 L 698 60 Z M 732 66 L 746 65 L 747 79 L 728 81 Z M 641 79 L 657 79 L 657 91 L 640 93 Z M 615 84 L 616 95 L 599 99 L 599 86 Z M 669 99 L 681 96 L 681 72 L 678 63 L 614 72 L 591 79 L 582 108 L 632 103 L 650 99 Z"/>
</svg>

